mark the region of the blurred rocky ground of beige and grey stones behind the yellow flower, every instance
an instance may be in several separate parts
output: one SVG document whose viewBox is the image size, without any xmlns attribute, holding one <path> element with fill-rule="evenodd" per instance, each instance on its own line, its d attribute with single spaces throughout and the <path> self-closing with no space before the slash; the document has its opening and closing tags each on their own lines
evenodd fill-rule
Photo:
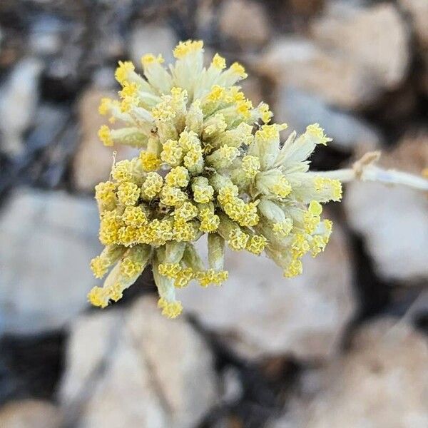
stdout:
<svg viewBox="0 0 428 428">
<path fill-rule="evenodd" d="M 98 101 L 119 59 L 188 38 L 245 63 L 277 121 L 325 127 L 312 168 L 373 148 L 428 166 L 427 0 L 2 0 L 0 427 L 427 427 L 428 199 L 412 190 L 348 185 L 295 280 L 230 253 L 228 283 L 183 290 L 174 322 L 149 272 L 88 307 L 112 163 Z"/>
</svg>

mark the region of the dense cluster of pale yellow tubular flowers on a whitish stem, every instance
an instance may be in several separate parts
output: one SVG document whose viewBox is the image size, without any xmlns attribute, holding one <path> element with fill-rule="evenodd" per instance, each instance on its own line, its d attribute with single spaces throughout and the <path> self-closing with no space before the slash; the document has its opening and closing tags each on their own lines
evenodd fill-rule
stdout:
<svg viewBox="0 0 428 428">
<path fill-rule="evenodd" d="M 307 158 L 330 141 L 317 125 L 280 143 L 285 124 L 269 124 L 265 103 L 253 107 L 237 83 L 243 66 L 216 54 L 203 66 L 203 42 L 186 41 L 163 58 L 142 58 L 144 78 L 120 62 L 120 100 L 104 98 L 99 111 L 106 146 L 127 144 L 138 157 L 113 165 L 110 180 L 96 186 L 100 240 L 96 277 L 108 274 L 88 298 L 106 307 L 151 263 L 164 315 L 182 311 L 175 289 L 190 280 L 220 285 L 225 243 L 232 250 L 266 255 L 286 277 L 302 272 L 302 255 L 324 250 L 332 223 L 321 220 L 320 203 L 340 200 L 340 182 L 310 173 Z M 208 234 L 208 267 L 193 243 Z"/>
</svg>

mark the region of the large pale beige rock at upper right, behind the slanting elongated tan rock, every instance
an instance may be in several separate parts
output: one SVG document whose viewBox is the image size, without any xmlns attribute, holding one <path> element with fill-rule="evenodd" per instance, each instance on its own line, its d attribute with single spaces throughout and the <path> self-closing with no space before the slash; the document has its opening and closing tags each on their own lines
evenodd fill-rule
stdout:
<svg viewBox="0 0 428 428">
<path fill-rule="evenodd" d="M 409 32 L 393 4 L 355 7 L 330 3 L 312 26 L 315 40 L 362 65 L 381 88 L 399 86 L 409 67 Z"/>
</svg>

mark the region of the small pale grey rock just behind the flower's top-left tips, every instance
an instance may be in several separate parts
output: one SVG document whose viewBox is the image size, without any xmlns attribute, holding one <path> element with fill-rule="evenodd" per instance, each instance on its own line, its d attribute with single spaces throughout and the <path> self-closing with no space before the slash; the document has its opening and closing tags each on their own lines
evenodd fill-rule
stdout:
<svg viewBox="0 0 428 428">
<path fill-rule="evenodd" d="M 173 61 L 173 49 L 178 40 L 169 26 L 139 24 L 131 33 L 131 59 L 141 68 L 141 56 L 144 54 L 162 54 L 165 63 Z"/>
</svg>

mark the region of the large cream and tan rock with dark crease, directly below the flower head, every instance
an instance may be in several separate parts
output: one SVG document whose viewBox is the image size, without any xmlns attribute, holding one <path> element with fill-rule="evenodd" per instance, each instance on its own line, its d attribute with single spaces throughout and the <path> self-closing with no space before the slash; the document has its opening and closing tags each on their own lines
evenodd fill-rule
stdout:
<svg viewBox="0 0 428 428">
<path fill-rule="evenodd" d="M 143 297 L 73 325 L 60 396 L 66 412 L 81 414 L 76 427 L 186 428 L 218 390 L 208 345 L 183 317 L 168 320 Z"/>
</svg>

